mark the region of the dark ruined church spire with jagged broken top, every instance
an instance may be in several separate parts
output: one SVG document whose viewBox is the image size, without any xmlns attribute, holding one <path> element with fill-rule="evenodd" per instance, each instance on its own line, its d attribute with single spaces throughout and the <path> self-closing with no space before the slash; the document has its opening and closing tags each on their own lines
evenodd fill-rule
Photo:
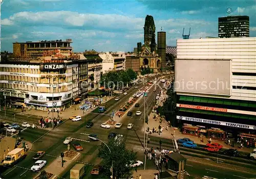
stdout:
<svg viewBox="0 0 256 179">
<path fill-rule="evenodd" d="M 145 47 L 150 49 L 151 53 L 156 51 L 156 27 L 154 18 L 151 15 L 147 15 L 144 25 L 144 44 Z"/>
</svg>

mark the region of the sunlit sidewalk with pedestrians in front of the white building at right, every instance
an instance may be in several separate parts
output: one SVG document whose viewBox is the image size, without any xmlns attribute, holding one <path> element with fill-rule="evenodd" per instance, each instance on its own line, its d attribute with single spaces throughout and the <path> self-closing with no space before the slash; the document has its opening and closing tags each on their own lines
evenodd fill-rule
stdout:
<svg viewBox="0 0 256 179">
<path fill-rule="evenodd" d="M 160 101 L 162 98 L 166 98 L 166 96 L 167 95 L 163 95 L 159 99 L 159 105 L 162 105 L 162 103 Z M 153 119 L 154 115 L 157 116 L 156 119 Z M 160 132 L 160 135 L 159 135 L 159 129 L 158 129 L 159 125 L 161 125 L 161 127 L 163 128 L 163 131 Z M 168 130 L 166 129 L 167 125 L 168 125 Z M 180 131 L 180 129 L 171 127 L 167 121 L 162 121 L 162 123 L 160 123 L 160 117 L 155 113 L 150 114 L 150 120 L 148 120 L 148 125 L 146 125 L 146 128 L 147 127 L 150 127 L 151 130 L 153 129 L 153 127 L 157 128 L 158 132 L 152 133 L 152 135 L 151 135 L 154 137 L 161 137 L 161 138 L 166 138 L 166 139 L 189 138 L 190 140 L 193 140 L 196 144 L 198 144 L 198 146 L 206 145 L 208 143 L 208 138 L 206 138 L 205 136 L 203 137 L 204 140 L 202 141 L 202 136 L 200 138 L 198 138 L 197 136 L 184 135 Z M 143 127 L 142 127 L 141 131 L 144 131 Z M 247 148 L 247 147 L 240 149 L 240 145 L 237 144 L 236 141 L 233 141 L 233 139 L 230 139 L 230 142 L 231 142 L 231 144 L 234 144 L 234 147 L 228 146 L 227 140 L 225 140 L 225 141 L 211 140 L 211 141 L 212 141 L 212 143 L 216 142 L 216 143 L 223 145 L 224 149 L 233 148 L 233 149 L 237 149 L 238 151 L 242 151 L 242 152 L 246 152 L 246 153 L 250 153 L 253 150 L 253 148 Z"/>
</svg>

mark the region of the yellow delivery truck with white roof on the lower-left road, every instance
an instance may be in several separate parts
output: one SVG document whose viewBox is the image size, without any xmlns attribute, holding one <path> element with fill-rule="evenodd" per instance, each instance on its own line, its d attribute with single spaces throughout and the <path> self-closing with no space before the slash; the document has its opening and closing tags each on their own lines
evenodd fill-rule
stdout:
<svg viewBox="0 0 256 179">
<path fill-rule="evenodd" d="M 4 160 L 4 166 L 12 166 L 18 163 L 20 160 L 24 158 L 25 150 L 24 148 L 15 148 L 14 150 L 7 153 Z"/>
</svg>

